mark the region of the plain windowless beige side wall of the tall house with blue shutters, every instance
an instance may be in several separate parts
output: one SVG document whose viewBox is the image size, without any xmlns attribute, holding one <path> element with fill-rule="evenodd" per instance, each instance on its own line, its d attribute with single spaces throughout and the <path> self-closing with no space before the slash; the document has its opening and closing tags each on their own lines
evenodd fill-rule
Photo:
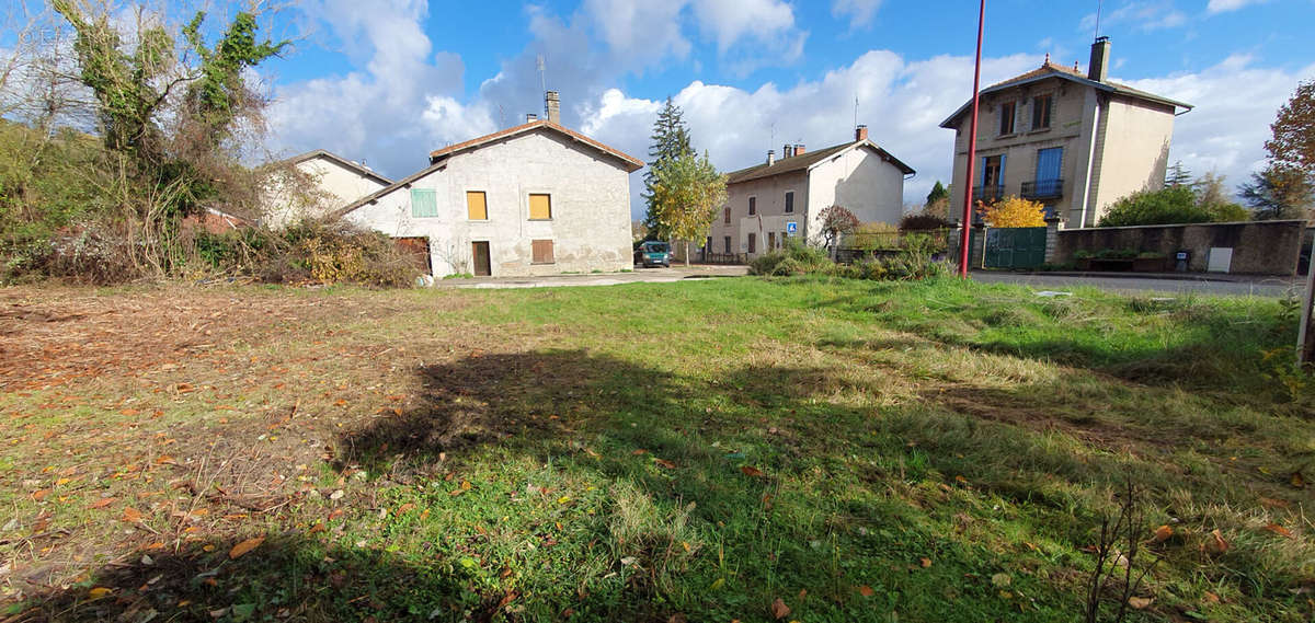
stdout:
<svg viewBox="0 0 1315 623">
<path fill-rule="evenodd" d="M 1173 108 L 1114 96 L 1105 109 L 1105 131 L 1097 142 L 1099 177 L 1093 184 L 1094 226 L 1110 206 L 1137 191 L 1164 188 L 1173 139 Z"/>
</svg>

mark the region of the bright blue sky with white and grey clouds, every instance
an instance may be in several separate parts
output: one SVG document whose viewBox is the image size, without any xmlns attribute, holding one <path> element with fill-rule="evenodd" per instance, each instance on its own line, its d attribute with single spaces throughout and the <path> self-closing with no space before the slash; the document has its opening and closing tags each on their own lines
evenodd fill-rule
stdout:
<svg viewBox="0 0 1315 623">
<path fill-rule="evenodd" d="M 1110 79 L 1186 101 L 1170 162 L 1235 187 L 1264 164 L 1277 109 L 1315 78 L 1315 0 L 988 0 L 982 85 L 1047 54 L 1086 68 L 1099 34 Z M 948 181 L 972 96 L 977 7 L 968 0 L 304 0 L 283 9 L 297 39 L 260 67 L 272 97 L 267 149 L 326 149 L 391 177 L 438 147 L 542 113 L 647 158 L 663 101 L 722 171 L 782 143 L 852 139 L 855 121 L 918 173 L 906 205 Z M 281 33 L 275 33 L 281 34 Z M 544 72 L 537 70 L 543 57 Z M 856 105 L 857 101 L 857 105 Z M 631 213 L 643 214 L 642 175 Z"/>
</svg>

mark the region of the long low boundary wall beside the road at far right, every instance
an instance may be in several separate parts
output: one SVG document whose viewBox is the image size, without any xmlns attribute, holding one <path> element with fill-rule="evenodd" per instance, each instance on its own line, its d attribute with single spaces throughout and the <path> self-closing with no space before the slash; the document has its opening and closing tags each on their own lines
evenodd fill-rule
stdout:
<svg viewBox="0 0 1315 623">
<path fill-rule="evenodd" d="M 1189 251 L 1187 269 L 1205 272 L 1210 248 L 1226 247 L 1233 250 L 1228 272 L 1294 275 L 1304 229 L 1304 221 L 1066 229 L 1059 231 L 1055 262 L 1072 262 L 1073 254 L 1080 250 L 1132 248 L 1156 251 L 1168 258 L 1177 251 Z"/>
</svg>

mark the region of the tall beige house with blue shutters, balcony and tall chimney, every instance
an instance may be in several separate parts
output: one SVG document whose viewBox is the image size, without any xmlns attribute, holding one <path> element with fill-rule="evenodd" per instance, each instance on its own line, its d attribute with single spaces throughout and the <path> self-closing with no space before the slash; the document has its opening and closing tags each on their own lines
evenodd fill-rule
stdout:
<svg viewBox="0 0 1315 623">
<path fill-rule="evenodd" d="M 1173 120 L 1190 104 L 1109 80 L 1110 39 L 1091 45 L 1084 74 L 1045 58 L 1036 70 L 981 91 L 973 188 L 965 188 L 972 101 L 942 127 L 955 130 L 951 214 L 964 193 L 1041 202 L 1068 227 L 1095 226 L 1111 204 L 1164 187 Z"/>
</svg>

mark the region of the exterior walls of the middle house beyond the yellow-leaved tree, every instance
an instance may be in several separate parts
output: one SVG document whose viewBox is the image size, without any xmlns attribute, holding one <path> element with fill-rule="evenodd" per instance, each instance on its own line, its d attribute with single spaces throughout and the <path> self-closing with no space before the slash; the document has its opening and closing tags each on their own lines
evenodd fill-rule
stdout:
<svg viewBox="0 0 1315 623">
<path fill-rule="evenodd" d="M 785 193 L 794 192 L 794 212 L 785 213 Z M 731 237 L 731 252 L 748 252 L 748 235 L 756 239 L 757 256 L 769 251 L 768 234 L 776 234 L 777 246 L 786 233 L 786 223 L 794 222 L 792 238 L 821 242 L 819 214 L 831 205 L 842 205 L 863 222 L 898 223 L 903 214 L 903 172 L 885 162 L 877 150 L 860 147 L 844 151 L 830 160 L 818 163 L 811 171 L 760 177 L 730 184 L 726 205 L 731 209 L 731 222 L 726 225 L 719 212 L 707 235 L 713 238 L 713 251 L 726 252 L 725 237 Z M 748 198 L 756 197 L 756 210 L 748 214 Z M 761 218 L 759 218 L 761 217 Z M 702 242 L 700 242 L 702 243 Z"/>
</svg>

